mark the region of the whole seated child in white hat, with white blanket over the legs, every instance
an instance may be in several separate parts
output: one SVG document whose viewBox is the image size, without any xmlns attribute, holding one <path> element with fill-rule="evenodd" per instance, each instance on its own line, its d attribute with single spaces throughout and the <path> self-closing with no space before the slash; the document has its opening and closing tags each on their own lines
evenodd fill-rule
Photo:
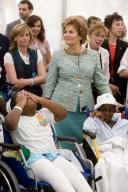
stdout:
<svg viewBox="0 0 128 192">
<path fill-rule="evenodd" d="M 106 93 L 98 96 L 95 117 L 84 122 L 84 130 L 96 134 L 101 158 L 95 166 L 98 192 L 127 192 L 128 189 L 128 120 L 116 112 L 116 100 Z M 119 182 L 120 181 L 120 182 Z"/>
</svg>

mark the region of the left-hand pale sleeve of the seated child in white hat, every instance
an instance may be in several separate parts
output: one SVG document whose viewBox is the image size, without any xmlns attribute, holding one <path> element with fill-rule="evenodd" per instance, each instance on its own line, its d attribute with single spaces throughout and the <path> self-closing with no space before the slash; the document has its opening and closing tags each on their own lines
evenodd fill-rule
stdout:
<svg viewBox="0 0 128 192">
<path fill-rule="evenodd" d="M 92 133 L 96 133 L 96 126 L 95 126 L 95 120 L 92 117 L 88 117 L 83 126 L 84 131 L 89 131 Z"/>
</svg>

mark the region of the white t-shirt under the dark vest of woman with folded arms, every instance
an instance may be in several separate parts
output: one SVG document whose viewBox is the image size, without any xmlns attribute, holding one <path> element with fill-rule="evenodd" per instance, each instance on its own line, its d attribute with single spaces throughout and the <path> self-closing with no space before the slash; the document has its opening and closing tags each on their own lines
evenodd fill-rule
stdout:
<svg viewBox="0 0 128 192">
<path fill-rule="evenodd" d="M 19 54 L 23 59 L 23 61 L 25 62 L 25 64 L 29 65 L 29 56 L 28 57 L 24 56 L 20 51 L 19 51 Z M 40 64 L 42 61 L 43 61 L 43 56 L 40 53 L 40 51 L 37 50 L 37 65 Z M 7 52 L 4 56 L 4 65 L 6 65 L 7 63 L 14 64 L 12 55 L 9 52 Z"/>
</svg>

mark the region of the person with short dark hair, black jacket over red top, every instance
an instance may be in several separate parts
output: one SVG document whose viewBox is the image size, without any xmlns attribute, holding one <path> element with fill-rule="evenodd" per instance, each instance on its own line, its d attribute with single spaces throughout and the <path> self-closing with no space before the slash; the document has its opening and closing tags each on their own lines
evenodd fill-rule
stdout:
<svg viewBox="0 0 128 192">
<path fill-rule="evenodd" d="M 113 13 L 112 15 L 107 15 L 105 17 L 104 24 L 108 28 L 108 38 L 103 42 L 102 47 L 107 49 L 110 55 L 110 87 L 116 100 L 124 104 L 127 80 L 119 77 L 119 74 L 117 73 L 120 61 L 128 47 L 127 42 L 120 40 L 124 21 L 121 15 Z"/>
</svg>

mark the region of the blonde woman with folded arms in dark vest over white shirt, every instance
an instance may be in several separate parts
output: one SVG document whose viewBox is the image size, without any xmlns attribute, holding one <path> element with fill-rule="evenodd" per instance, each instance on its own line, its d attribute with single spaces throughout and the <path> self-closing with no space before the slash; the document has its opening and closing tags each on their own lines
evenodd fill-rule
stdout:
<svg viewBox="0 0 128 192">
<path fill-rule="evenodd" d="M 42 96 L 41 85 L 45 82 L 45 67 L 40 51 L 29 45 L 32 35 L 27 24 L 18 24 L 11 34 L 11 49 L 4 57 L 4 66 L 9 83 L 14 89 L 22 89 Z"/>
</svg>

